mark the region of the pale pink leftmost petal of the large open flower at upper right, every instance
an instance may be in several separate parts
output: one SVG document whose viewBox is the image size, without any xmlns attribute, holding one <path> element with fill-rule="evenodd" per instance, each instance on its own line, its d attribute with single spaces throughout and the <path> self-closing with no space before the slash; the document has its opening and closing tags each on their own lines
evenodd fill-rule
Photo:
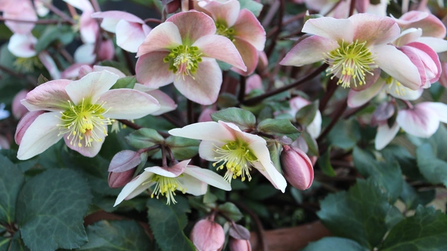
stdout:
<svg viewBox="0 0 447 251">
<path fill-rule="evenodd" d="M 299 41 L 285 58 L 279 62 L 282 65 L 301 67 L 305 64 L 313 64 L 325 58 L 324 53 L 329 53 L 340 47 L 336 41 L 322 36 L 309 36 Z"/>
</svg>

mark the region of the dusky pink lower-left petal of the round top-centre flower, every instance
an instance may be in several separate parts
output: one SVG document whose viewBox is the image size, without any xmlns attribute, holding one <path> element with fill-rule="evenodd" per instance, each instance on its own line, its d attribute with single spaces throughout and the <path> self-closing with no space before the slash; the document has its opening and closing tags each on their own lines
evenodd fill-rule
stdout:
<svg viewBox="0 0 447 251">
<path fill-rule="evenodd" d="M 138 58 L 135 67 L 138 82 L 152 88 L 171 84 L 175 75 L 169 70 L 169 64 L 163 62 L 166 56 L 168 51 L 153 51 Z"/>
</svg>

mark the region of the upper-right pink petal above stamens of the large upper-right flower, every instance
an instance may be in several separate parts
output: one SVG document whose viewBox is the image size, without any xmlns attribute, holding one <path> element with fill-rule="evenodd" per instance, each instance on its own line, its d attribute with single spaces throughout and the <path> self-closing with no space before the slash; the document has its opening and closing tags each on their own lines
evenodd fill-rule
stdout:
<svg viewBox="0 0 447 251">
<path fill-rule="evenodd" d="M 399 25 L 387 16 L 362 13 L 349 17 L 349 21 L 353 23 L 353 40 L 367 41 L 367 46 L 391 43 L 400 35 Z"/>
</svg>

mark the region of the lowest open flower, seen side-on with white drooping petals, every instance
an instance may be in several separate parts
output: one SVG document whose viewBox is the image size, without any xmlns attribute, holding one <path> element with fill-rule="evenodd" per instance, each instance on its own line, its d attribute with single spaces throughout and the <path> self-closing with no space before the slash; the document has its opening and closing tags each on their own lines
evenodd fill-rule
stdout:
<svg viewBox="0 0 447 251">
<path fill-rule="evenodd" d="M 151 198 L 165 196 L 166 204 L 176 203 L 176 190 L 195 196 L 204 195 L 208 184 L 226 191 L 231 190 L 230 184 L 221 176 L 208 169 L 188 165 L 189 162 L 190 160 L 183 160 L 172 167 L 147 167 L 142 174 L 127 183 L 116 198 L 114 206 L 123 200 L 134 198 L 153 185 L 155 187 L 152 189 Z"/>
</svg>

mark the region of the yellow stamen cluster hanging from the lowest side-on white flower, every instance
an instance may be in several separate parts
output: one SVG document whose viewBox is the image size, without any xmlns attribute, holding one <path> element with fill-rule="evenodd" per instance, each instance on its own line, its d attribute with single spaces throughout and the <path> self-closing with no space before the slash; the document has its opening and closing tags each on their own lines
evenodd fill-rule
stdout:
<svg viewBox="0 0 447 251">
<path fill-rule="evenodd" d="M 181 176 L 182 174 L 179 177 Z M 160 194 L 162 196 L 166 196 L 166 199 L 168 200 L 166 204 L 168 205 L 171 204 L 171 202 L 173 202 L 173 204 L 177 203 L 177 201 L 175 201 L 174 199 L 175 190 L 178 189 L 182 191 L 182 193 L 186 193 L 186 189 L 182 187 L 182 184 L 180 184 L 177 178 L 168 178 L 155 174 L 152 177 L 151 182 L 156 182 L 155 188 L 153 189 L 153 192 L 151 194 L 151 198 L 153 198 L 153 196 L 156 195 L 158 199 Z"/>
</svg>

